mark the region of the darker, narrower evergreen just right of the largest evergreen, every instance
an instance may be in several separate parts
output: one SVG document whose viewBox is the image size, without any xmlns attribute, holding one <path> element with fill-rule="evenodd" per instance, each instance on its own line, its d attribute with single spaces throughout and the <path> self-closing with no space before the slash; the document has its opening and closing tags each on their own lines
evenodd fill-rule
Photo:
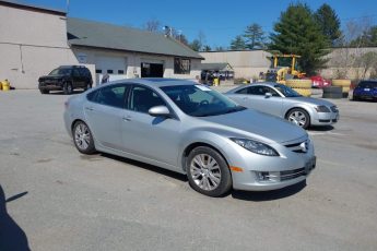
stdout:
<svg viewBox="0 0 377 251">
<path fill-rule="evenodd" d="M 335 11 L 327 3 L 323 3 L 315 13 L 315 19 L 322 31 L 322 34 L 329 39 L 332 46 L 335 46 L 341 37 L 340 20 Z"/>
</svg>

